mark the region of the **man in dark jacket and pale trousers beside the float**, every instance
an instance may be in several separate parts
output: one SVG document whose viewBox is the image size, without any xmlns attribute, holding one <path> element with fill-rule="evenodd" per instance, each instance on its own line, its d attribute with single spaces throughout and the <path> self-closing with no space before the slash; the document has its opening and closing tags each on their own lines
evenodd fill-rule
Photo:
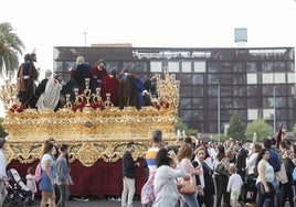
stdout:
<svg viewBox="0 0 296 207">
<path fill-rule="evenodd" d="M 135 162 L 131 154 L 135 152 L 134 142 L 127 143 L 126 152 L 123 156 L 123 184 L 121 207 L 133 207 L 135 194 L 135 171 L 139 167 L 139 162 Z"/>
</svg>

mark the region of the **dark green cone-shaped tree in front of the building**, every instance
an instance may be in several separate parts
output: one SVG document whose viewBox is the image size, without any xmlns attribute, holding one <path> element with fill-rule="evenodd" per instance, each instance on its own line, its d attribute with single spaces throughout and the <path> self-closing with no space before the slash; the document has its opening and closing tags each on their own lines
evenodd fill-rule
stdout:
<svg viewBox="0 0 296 207">
<path fill-rule="evenodd" d="M 228 129 L 228 137 L 233 138 L 234 140 L 244 141 L 245 127 L 241 122 L 240 115 L 237 111 L 233 113 L 230 119 L 230 127 Z"/>
</svg>

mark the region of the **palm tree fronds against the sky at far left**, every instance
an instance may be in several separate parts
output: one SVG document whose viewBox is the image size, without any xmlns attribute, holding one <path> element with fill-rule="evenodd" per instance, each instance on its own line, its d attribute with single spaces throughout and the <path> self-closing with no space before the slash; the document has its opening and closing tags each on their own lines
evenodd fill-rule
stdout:
<svg viewBox="0 0 296 207">
<path fill-rule="evenodd" d="M 0 23 L 0 73 L 17 70 L 19 67 L 19 55 L 25 48 L 19 36 L 12 32 L 10 23 Z"/>
</svg>

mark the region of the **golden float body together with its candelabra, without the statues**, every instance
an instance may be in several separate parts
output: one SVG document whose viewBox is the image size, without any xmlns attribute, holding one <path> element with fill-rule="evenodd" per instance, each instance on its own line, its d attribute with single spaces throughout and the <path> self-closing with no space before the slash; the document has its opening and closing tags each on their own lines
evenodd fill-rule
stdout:
<svg viewBox="0 0 296 207">
<path fill-rule="evenodd" d="M 110 103 L 109 95 L 103 102 L 99 88 L 96 94 L 91 94 L 87 81 L 83 94 L 75 91 L 74 103 L 67 95 L 64 108 L 36 111 L 20 110 L 19 86 L 10 77 L 4 79 L 0 98 L 6 110 L 3 127 L 8 133 L 8 162 L 34 162 L 40 159 L 42 145 L 49 138 L 53 138 L 57 144 L 68 144 L 70 162 L 78 160 L 84 166 L 94 165 L 98 159 L 105 162 L 118 161 L 129 141 L 134 141 L 137 146 L 134 157 L 144 157 L 155 129 L 162 131 L 167 142 L 176 140 L 180 81 L 168 69 L 165 68 L 163 78 L 157 75 L 158 97 L 152 106 L 140 110 L 135 107 L 120 110 Z M 86 103 L 80 107 L 83 101 Z M 98 107 L 91 106 L 94 103 Z M 76 110 L 77 107 L 80 110 Z"/>
</svg>

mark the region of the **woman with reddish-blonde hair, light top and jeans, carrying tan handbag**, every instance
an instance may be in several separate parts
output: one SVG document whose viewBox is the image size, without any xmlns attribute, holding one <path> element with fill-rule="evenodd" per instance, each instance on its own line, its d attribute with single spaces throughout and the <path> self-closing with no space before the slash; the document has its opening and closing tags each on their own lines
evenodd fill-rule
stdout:
<svg viewBox="0 0 296 207">
<path fill-rule="evenodd" d="M 202 173 L 200 171 L 201 166 L 194 167 L 191 163 L 193 155 L 192 148 L 189 144 L 184 144 L 180 152 L 178 153 L 178 160 L 180 164 L 184 167 L 186 172 L 190 174 L 193 183 L 197 183 L 195 175 Z M 181 207 L 199 207 L 197 189 L 192 194 L 182 194 L 183 200 L 181 200 Z"/>
</svg>

